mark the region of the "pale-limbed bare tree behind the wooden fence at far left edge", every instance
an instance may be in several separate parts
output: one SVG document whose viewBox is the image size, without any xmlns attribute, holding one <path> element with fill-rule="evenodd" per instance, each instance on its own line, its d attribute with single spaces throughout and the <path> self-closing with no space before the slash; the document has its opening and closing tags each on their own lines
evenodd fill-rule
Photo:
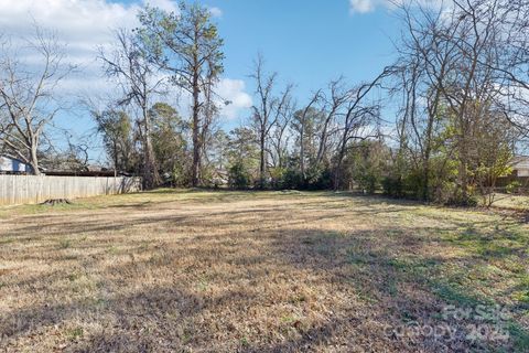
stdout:
<svg viewBox="0 0 529 353">
<path fill-rule="evenodd" d="M 0 47 L 0 141 L 3 152 L 40 171 L 39 149 L 45 129 L 64 109 L 57 87 L 74 69 L 64 62 L 64 46 L 53 33 L 35 26 L 28 45 L 13 44 L 9 38 Z M 35 55 L 37 66 L 20 57 Z"/>
</svg>

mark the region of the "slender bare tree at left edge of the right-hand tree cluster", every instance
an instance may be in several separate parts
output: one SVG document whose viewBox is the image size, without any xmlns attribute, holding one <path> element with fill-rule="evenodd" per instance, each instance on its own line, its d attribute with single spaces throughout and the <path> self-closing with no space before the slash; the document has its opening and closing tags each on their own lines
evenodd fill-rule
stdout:
<svg viewBox="0 0 529 353">
<path fill-rule="evenodd" d="M 434 131 L 440 124 L 440 113 L 444 104 L 443 83 L 451 71 L 455 69 L 454 55 L 456 47 L 438 35 L 443 24 L 443 9 L 427 11 L 420 9 L 422 23 L 412 9 L 402 7 L 407 36 L 398 46 L 400 58 L 397 63 L 401 79 L 400 88 L 404 97 L 404 109 L 401 119 L 401 147 L 408 148 L 413 157 L 415 168 L 422 170 L 422 199 L 430 197 L 431 157 L 434 145 Z M 408 129 L 407 129 L 408 128 Z M 410 148 L 410 143 L 417 150 Z M 418 153 L 415 153 L 415 151 Z M 415 156 L 418 154 L 418 156 Z"/>
</svg>

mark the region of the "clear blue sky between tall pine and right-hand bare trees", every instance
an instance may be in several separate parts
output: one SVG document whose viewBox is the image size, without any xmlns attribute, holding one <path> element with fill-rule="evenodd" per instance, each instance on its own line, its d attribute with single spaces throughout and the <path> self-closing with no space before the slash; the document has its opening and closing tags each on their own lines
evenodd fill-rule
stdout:
<svg viewBox="0 0 529 353">
<path fill-rule="evenodd" d="M 302 100 L 311 89 L 341 74 L 369 79 L 392 60 L 396 17 L 385 8 L 352 13 L 346 0 L 217 0 L 226 41 L 226 75 L 245 77 L 257 52 L 267 67 L 299 85 Z M 251 85 L 248 85 L 251 86 Z"/>
</svg>

